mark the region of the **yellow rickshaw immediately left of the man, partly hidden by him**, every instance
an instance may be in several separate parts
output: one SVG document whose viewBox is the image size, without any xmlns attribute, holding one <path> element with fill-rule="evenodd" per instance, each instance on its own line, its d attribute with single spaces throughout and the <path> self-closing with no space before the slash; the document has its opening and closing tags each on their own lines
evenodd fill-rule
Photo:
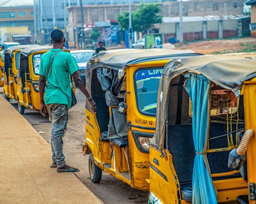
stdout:
<svg viewBox="0 0 256 204">
<path fill-rule="evenodd" d="M 38 45 L 22 49 L 19 56 L 17 75 L 18 111 L 24 114 L 25 108 L 40 110 L 39 67 L 41 56 L 52 49 L 52 45 Z M 63 49 L 69 52 L 67 49 Z"/>
</svg>

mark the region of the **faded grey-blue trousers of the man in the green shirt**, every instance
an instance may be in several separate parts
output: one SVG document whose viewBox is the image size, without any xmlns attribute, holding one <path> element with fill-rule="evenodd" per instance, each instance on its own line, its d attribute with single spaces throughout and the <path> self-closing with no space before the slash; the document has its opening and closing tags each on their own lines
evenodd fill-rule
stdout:
<svg viewBox="0 0 256 204">
<path fill-rule="evenodd" d="M 65 166 L 65 156 L 63 155 L 63 140 L 68 123 L 68 107 L 63 104 L 46 105 L 49 120 L 52 122 L 51 147 L 52 162 L 57 164 L 58 168 Z"/>
</svg>

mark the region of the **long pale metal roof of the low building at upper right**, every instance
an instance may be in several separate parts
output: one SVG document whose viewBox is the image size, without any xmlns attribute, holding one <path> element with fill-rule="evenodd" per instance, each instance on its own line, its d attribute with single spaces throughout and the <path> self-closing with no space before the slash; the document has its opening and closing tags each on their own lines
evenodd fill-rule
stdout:
<svg viewBox="0 0 256 204">
<path fill-rule="evenodd" d="M 255 0 L 256 1 L 256 0 Z M 183 16 L 183 22 L 198 22 L 198 21 L 208 21 L 208 20 L 233 20 L 244 17 L 250 17 L 243 14 L 237 15 L 208 15 L 208 16 Z M 164 23 L 170 22 L 180 22 L 180 17 L 163 17 Z"/>
</svg>

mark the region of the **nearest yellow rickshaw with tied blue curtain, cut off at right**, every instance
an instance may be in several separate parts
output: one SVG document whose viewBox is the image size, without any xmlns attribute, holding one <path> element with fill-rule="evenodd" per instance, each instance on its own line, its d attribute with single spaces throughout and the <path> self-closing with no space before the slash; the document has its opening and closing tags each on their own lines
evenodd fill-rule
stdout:
<svg viewBox="0 0 256 204">
<path fill-rule="evenodd" d="M 256 53 L 165 65 L 148 203 L 255 203 L 255 65 Z"/>
</svg>

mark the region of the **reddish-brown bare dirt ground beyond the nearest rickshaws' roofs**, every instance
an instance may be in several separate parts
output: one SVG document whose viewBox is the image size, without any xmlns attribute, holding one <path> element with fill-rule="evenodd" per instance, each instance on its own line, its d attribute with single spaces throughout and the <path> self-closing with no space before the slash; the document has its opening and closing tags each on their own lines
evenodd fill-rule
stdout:
<svg viewBox="0 0 256 204">
<path fill-rule="evenodd" d="M 248 44 L 256 45 L 256 38 L 238 38 L 229 40 L 212 40 L 212 41 L 200 41 L 200 42 L 189 42 L 184 45 L 165 43 L 163 48 L 172 49 L 191 49 L 196 53 L 202 54 L 215 54 L 214 52 L 220 53 L 238 53 L 243 52 L 243 48 Z M 254 50 L 256 52 L 256 50 Z"/>
</svg>

